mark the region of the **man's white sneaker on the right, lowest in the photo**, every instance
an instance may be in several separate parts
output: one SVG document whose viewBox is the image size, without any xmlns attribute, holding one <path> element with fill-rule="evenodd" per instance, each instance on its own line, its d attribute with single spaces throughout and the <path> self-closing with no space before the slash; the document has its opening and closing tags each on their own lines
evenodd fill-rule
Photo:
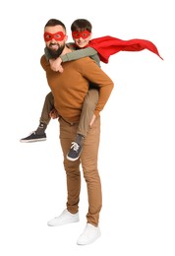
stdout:
<svg viewBox="0 0 175 256">
<path fill-rule="evenodd" d="M 87 245 L 94 242 L 100 236 L 100 229 L 93 224 L 87 224 L 84 232 L 79 237 L 77 244 Z"/>
</svg>

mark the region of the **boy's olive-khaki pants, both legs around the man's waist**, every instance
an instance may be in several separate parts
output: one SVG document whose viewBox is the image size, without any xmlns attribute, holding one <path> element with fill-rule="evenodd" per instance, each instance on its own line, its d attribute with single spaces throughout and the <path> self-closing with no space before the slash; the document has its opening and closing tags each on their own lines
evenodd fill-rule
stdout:
<svg viewBox="0 0 175 256">
<path fill-rule="evenodd" d="M 87 132 L 89 128 L 88 126 L 98 101 L 98 96 L 99 96 L 98 94 L 99 94 L 98 90 L 90 89 L 88 90 L 87 96 L 85 97 L 85 100 L 84 100 L 81 118 L 80 118 L 79 126 L 77 129 L 77 133 L 83 135 L 84 137 L 87 136 Z M 54 98 L 52 93 L 50 92 L 45 97 L 45 101 L 44 101 L 41 116 L 40 116 L 40 122 L 48 125 L 48 123 L 50 122 L 49 113 L 53 108 L 54 108 Z"/>
</svg>

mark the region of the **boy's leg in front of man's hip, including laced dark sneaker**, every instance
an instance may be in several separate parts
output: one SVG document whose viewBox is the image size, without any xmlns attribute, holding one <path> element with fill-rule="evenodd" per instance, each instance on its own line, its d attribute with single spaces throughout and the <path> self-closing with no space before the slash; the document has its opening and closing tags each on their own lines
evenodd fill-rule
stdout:
<svg viewBox="0 0 175 256">
<path fill-rule="evenodd" d="M 92 119 L 94 109 L 98 102 L 99 92 L 97 89 L 89 89 L 87 96 L 85 97 L 81 118 L 79 121 L 79 126 L 77 130 L 77 136 L 75 138 L 75 142 L 72 142 L 71 149 L 67 155 L 68 160 L 78 160 L 82 148 L 85 137 L 87 136 L 87 132 L 89 129 L 89 123 Z"/>
</svg>

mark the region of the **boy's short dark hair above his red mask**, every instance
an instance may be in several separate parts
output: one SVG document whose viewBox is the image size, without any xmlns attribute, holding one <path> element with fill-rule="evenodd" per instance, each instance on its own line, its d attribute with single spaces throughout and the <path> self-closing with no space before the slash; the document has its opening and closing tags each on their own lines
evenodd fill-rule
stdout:
<svg viewBox="0 0 175 256">
<path fill-rule="evenodd" d="M 92 26 L 86 19 L 78 19 L 71 25 L 72 32 L 91 32 Z"/>
</svg>

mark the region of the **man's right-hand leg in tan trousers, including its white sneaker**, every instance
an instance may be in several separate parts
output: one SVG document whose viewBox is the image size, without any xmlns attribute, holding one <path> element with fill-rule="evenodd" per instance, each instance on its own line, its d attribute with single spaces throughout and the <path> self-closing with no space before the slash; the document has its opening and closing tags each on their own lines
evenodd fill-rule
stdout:
<svg viewBox="0 0 175 256">
<path fill-rule="evenodd" d="M 78 239 L 78 244 L 89 244 L 100 236 L 99 214 L 102 207 L 100 176 L 97 168 L 100 138 L 100 117 L 96 117 L 89 128 L 81 155 L 84 177 L 87 182 L 88 212 L 87 225 Z"/>
</svg>

